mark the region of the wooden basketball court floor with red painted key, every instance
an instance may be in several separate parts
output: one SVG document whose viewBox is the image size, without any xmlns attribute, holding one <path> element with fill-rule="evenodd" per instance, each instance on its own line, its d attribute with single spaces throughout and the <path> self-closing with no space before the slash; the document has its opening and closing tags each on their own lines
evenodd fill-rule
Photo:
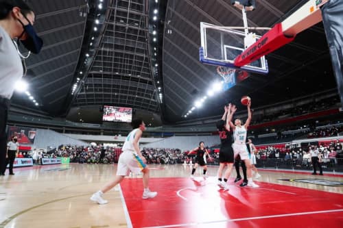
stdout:
<svg viewBox="0 0 343 228">
<path fill-rule="evenodd" d="M 89 200 L 113 178 L 117 166 L 69 164 L 16 168 L 0 177 L 0 228 L 48 227 L 342 227 L 343 175 L 261 170 L 261 188 L 229 191 L 209 178 L 189 178 L 191 167 L 151 165 L 150 187 L 143 200 L 141 175 L 128 177 L 104 195 L 109 203 Z"/>
</svg>

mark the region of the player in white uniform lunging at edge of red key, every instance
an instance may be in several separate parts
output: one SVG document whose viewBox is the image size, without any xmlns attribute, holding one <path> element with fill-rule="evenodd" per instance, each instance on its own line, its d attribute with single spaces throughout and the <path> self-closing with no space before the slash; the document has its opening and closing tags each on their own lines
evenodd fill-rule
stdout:
<svg viewBox="0 0 343 228">
<path fill-rule="evenodd" d="M 135 120 L 131 123 L 133 130 L 128 134 L 124 144 L 123 153 L 121 153 L 118 161 L 117 175 L 113 181 L 110 181 L 104 188 L 95 192 L 91 200 L 99 204 L 108 203 L 108 201 L 102 199 L 102 194 L 108 192 L 115 187 L 118 183 L 123 181 L 125 176 L 132 173 L 143 173 L 143 199 L 154 198 L 157 192 L 150 192 L 149 190 L 149 168 L 147 167 L 147 161 L 141 154 L 139 149 L 139 139 L 141 138 L 143 131 L 145 130 L 145 123 L 142 120 Z"/>
</svg>

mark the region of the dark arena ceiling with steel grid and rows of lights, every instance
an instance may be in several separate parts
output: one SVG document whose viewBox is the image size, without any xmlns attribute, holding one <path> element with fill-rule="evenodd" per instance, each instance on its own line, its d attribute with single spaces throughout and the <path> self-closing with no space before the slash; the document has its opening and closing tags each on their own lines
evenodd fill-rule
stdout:
<svg viewBox="0 0 343 228">
<path fill-rule="evenodd" d="M 199 62 L 200 21 L 242 25 L 241 12 L 224 0 L 104 0 L 102 9 L 99 0 L 28 2 L 45 46 L 27 60 L 26 79 L 38 110 L 51 116 L 66 116 L 72 107 L 119 105 L 161 112 L 165 123 L 185 121 L 182 115 L 220 78 L 215 66 Z M 257 0 L 248 25 L 272 27 L 298 2 Z M 268 75 L 250 75 L 187 119 L 221 114 L 225 103 L 243 95 L 260 107 L 336 88 L 322 23 L 266 58 Z M 12 103 L 37 108 L 25 94 Z"/>
</svg>

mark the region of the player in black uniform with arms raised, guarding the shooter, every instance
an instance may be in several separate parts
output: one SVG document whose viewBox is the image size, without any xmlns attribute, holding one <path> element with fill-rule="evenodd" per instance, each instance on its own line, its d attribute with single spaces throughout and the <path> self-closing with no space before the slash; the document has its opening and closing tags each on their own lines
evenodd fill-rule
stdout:
<svg viewBox="0 0 343 228">
<path fill-rule="evenodd" d="M 231 104 L 224 107 L 224 114 L 222 119 L 216 123 L 220 136 L 220 151 L 219 151 L 219 168 L 218 168 L 218 186 L 228 190 L 228 178 L 230 177 L 231 170 L 233 169 L 233 149 L 231 144 L 233 143 L 232 131 L 230 130 L 230 115 Z M 226 121 L 225 121 L 226 120 Z M 222 180 L 222 173 L 225 166 L 228 166 L 224 173 L 224 181 Z"/>
</svg>

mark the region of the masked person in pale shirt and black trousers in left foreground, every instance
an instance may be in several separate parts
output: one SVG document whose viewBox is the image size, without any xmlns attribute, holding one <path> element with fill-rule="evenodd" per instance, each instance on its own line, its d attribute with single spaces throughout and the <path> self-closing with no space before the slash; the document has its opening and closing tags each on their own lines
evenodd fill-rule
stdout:
<svg viewBox="0 0 343 228">
<path fill-rule="evenodd" d="M 0 0 L 0 175 L 6 169 L 6 125 L 10 99 L 16 81 L 25 74 L 21 63 L 23 55 L 16 41 L 21 41 L 28 51 L 38 53 L 43 46 L 36 31 L 32 28 L 35 14 L 23 0 Z"/>
</svg>

